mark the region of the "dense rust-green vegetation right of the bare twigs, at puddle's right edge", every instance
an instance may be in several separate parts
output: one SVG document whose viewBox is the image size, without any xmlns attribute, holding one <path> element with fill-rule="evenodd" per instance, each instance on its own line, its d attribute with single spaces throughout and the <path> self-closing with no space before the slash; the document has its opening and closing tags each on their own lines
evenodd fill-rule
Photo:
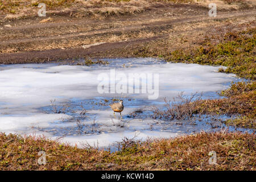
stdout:
<svg viewBox="0 0 256 182">
<path fill-rule="evenodd" d="M 201 100 L 196 102 L 194 111 L 201 114 L 227 114 L 236 119 L 228 119 L 227 125 L 256 129 L 255 81 L 232 84 L 222 91 L 226 98 Z"/>
</svg>

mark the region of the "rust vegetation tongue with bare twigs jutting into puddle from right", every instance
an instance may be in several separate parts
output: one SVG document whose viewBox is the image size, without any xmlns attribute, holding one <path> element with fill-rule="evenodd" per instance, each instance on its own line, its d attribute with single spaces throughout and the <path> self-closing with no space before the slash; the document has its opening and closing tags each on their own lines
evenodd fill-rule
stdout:
<svg viewBox="0 0 256 182">
<path fill-rule="evenodd" d="M 173 101 L 167 101 L 163 108 L 153 106 L 152 118 L 166 121 L 193 120 L 196 116 L 227 115 L 226 125 L 256 129 L 255 81 L 232 83 L 229 89 L 220 93 L 225 98 L 202 100 L 201 95 L 184 96 L 180 93 Z"/>
</svg>

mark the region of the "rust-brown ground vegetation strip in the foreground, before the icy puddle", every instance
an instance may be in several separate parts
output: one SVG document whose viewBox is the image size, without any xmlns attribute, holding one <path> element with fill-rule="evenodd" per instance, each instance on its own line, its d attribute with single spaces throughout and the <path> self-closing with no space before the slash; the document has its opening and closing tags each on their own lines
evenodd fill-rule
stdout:
<svg viewBox="0 0 256 182">
<path fill-rule="evenodd" d="M 77 148 L 38 137 L 0 134 L 1 170 L 255 170 L 255 135 L 200 133 L 174 139 L 124 139 L 120 151 Z M 46 164 L 39 165 L 39 151 Z M 209 164 L 216 151 L 217 164 Z"/>
</svg>

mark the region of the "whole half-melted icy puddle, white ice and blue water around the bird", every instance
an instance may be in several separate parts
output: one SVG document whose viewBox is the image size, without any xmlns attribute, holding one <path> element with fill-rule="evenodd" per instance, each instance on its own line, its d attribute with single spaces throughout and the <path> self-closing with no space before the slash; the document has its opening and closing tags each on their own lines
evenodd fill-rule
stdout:
<svg viewBox="0 0 256 182">
<path fill-rule="evenodd" d="M 203 92 L 204 98 L 218 98 L 217 91 L 239 81 L 233 74 L 218 73 L 220 67 L 207 65 L 172 64 L 149 58 L 107 61 L 109 64 L 91 66 L 0 65 L 0 132 L 43 134 L 64 137 L 63 142 L 108 147 L 123 137 L 134 137 L 135 133 L 144 139 L 214 131 L 207 124 L 209 117 L 193 124 L 168 122 L 152 119 L 150 108 L 162 105 L 164 97 L 171 99 L 181 91 Z M 141 81 L 139 87 L 128 84 L 133 83 L 131 73 L 142 73 L 141 78 L 134 80 Z M 150 78 L 152 85 L 148 85 Z M 122 92 L 115 87 L 120 83 Z M 145 83 L 147 89 L 143 92 Z M 104 89 L 109 93 L 102 93 Z M 136 89 L 139 93 L 134 93 Z M 123 119 L 119 113 L 113 117 L 108 106 L 113 99 L 123 100 Z"/>
</svg>

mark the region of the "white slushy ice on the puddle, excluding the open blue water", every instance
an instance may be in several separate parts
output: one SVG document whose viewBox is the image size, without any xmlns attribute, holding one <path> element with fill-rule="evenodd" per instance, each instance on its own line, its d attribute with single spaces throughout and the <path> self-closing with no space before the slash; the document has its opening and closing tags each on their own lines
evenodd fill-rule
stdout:
<svg viewBox="0 0 256 182">
<path fill-rule="evenodd" d="M 6 133 L 40 133 L 57 137 L 61 131 L 51 133 L 50 130 L 76 127 L 76 122 L 65 122 L 72 114 L 47 113 L 43 107 L 56 100 L 56 104 L 65 102 L 80 102 L 102 100 L 104 98 L 133 99 L 133 104 L 124 103 L 123 115 L 129 115 L 134 110 L 163 102 L 163 98 L 172 98 L 181 91 L 185 94 L 204 92 L 205 97 L 217 97 L 214 92 L 225 89 L 231 81 L 238 78 L 232 74 L 218 73 L 219 67 L 198 64 L 162 63 L 157 59 L 110 59 L 109 65 L 57 65 L 57 64 L 19 64 L 0 66 L 0 131 Z M 125 65 L 123 65 L 125 64 Z M 148 100 L 149 93 L 98 93 L 100 83 L 98 76 L 105 74 L 110 78 L 110 69 L 115 68 L 116 75 L 129 73 L 159 74 L 159 97 Z M 117 78 L 114 79 L 115 82 Z M 94 107 L 94 106 L 93 106 Z M 155 119 L 138 118 L 124 119 L 124 127 L 116 126 L 120 122 L 113 118 L 113 111 L 108 106 L 86 108 L 89 117 L 82 119 L 86 125 L 93 122 L 101 123 L 101 133 L 74 135 L 66 134 L 64 141 L 71 143 L 99 142 L 100 146 L 131 137 L 135 131 L 140 137 L 175 137 L 177 130 L 163 131 L 157 125 L 154 130 L 150 126 Z M 119 117 L 119 113 L 116 114 Z M 94 118 L 93 118 L 94 117 Z M 115 123 L 116 122 L 116 123 Z M 44 130 L 45 129 L 45 130 Z M 187 130 L 188 128 L 186 128 Z"/>
</svg>

